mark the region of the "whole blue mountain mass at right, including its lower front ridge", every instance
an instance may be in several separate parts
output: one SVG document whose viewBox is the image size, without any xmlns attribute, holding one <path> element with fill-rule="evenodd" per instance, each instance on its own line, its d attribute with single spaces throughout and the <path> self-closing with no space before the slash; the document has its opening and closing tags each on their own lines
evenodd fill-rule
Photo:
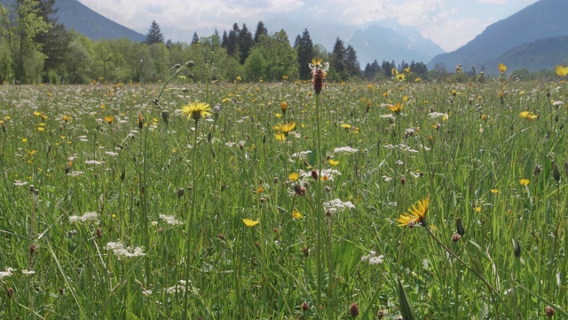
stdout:
<svg viewBox="0 0 568 320">
<path fill-rule="evenodd" d="M 428 68 L 445 66 L 453 71 L 458 64 L 464 70 L 485 68 L 498 73 L 497 65 L 507 65 L 509 71 L 525 68 L 530 71 L 551 68 L 568 58 L 568 1 L 540 0 L 505 20 L 485 28 L 468 44 L 454 52 L 439 54 Z"/>
</svg>

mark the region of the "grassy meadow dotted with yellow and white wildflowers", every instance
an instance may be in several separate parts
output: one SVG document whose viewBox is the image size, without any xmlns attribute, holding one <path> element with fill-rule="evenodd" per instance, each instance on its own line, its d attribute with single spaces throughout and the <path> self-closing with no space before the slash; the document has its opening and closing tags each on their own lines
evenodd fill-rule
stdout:
<svg viewBox="0 0 568 320">
<path fill-rule="evenodd" d="M 566 84 L 161 91 L 0 86 L 0 318 L 567 316 Z"/>
</svg>

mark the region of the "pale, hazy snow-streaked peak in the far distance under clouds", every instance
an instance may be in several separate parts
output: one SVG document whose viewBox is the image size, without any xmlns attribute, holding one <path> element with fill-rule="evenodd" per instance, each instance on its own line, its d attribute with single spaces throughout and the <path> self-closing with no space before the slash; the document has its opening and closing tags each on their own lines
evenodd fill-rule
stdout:
<svg viewBox="0 0 568 320">
<path fill-rule="evenodd" d="M 444 50 L 429 39 L 426 39 L 415 28 L 402 26 L 384 27 L 372 25 L 357 30 L 349 44 L 357 52 L 361 67 L 367 63 L 382 60 L 400 63 L 402 60 L 410 62 L 426 62 Z"/>
</svg>

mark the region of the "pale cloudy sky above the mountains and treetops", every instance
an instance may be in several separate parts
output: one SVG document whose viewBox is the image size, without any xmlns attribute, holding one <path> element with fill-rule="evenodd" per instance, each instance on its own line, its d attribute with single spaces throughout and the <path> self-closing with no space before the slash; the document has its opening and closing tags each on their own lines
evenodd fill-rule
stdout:
<svg viewBox="0 0 568 320">
<path fill-rule="evenodd" d="M 488 25 L 537 0 L 79 0 L 92 10 L 142 34 L 152 20 L 163 29 L 188 31 L 217 28 L 220 33 L 237 22 L 254 34 L 259 20 L 285 19 L 290 24 L 335 21 L 360 25 L 394 19 L 413 26 L 446 51 L 453 51 Z M 307 27 L 307 25 L 305 26 Z M 286 25 L 280 26 L 286 29 Z M 280 30 L 269 31 L 274 32 Z M 302 26 L 304 28 L 304 26 Z M 308 28 L 309 30 L 309 28 Z M 164 32 L 164 36 L 168 35 Z M 201 35 L 200 36 L 209 36 Z M 288 35 L 294 39 L 296 35 Z M 188 38 L 186 42 L 191 41 Z M 313 39 L 318 43 L 318 39 Z"/>
</svg>

